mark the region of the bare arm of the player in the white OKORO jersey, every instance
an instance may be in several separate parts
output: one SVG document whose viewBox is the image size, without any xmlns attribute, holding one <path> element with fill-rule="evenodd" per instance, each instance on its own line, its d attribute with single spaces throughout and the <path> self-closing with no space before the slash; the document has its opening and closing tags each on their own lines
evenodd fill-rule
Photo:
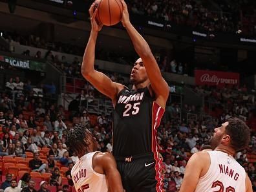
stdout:
<svg viewBox="0 0 256 192">
<path fill-rule="evenodd" d="M 114 156 L 111 153 L 103 153 L 101 165 L 109 182 L 109 192 L 123 192 L 122 180 Z"/>
</svg>

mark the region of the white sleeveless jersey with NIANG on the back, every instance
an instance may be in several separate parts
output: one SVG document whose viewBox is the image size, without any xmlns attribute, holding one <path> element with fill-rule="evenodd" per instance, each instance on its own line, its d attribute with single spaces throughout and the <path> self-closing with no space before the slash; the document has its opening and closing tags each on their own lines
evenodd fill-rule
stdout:
<svg viewBox="0 0 256 192">
<path fill-rule="evenodd" d="M 246 191 L 246 172 L 233 156 L 222 151 L 207 153 L 209 153 L 211 165 L 206 175 L 199 178 L 195 192 Z"/>
</svg>

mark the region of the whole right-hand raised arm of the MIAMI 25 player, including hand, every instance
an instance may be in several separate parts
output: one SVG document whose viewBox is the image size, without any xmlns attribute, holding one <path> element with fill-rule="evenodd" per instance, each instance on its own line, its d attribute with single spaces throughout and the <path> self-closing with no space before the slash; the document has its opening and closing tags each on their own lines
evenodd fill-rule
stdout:
<svg viewBox="0 0 256 192">
<path fill-rule="evenodd" d="M 153 91 L 156 95 L 156 101 L 158 105 L 165 108 L 165 104 L 169 96 L 169 87 L 164 78 L 162 78 L 162 74 L 160 72 L 158 64 L 156 63 L 156 59 L 151 52 L 149 45 L 131 24 L 125 1 L 120 1 L 123 5 L 123 27 L 126 28 L 131 40 L 133 41 L 133 45 L 137 54 L 140 56 L 140 58 L 142 58 L 142 61 L 144 62 L 144 66 L 147 71 L 147 75 L 149 76 L 149 80 L 151 82 Z"/>
</svg>

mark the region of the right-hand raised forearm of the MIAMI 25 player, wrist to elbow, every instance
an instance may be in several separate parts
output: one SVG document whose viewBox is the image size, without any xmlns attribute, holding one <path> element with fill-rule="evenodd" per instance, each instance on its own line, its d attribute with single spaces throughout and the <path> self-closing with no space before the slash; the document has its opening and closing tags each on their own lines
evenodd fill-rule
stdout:
<svg viewBox="0 0 256 192">
<path fill-rule="evenodd" d="M 140 58 L 145 58 L 149 56 L 151 53 L 151 49 L 149 48 L 149 45 L 147 44 L 147 41 L 145 41 L 144 37 L 142 37 L 139 32 L 133 27 L 131 23 L 128 23 L 125 25 L 125 28 L 131 38 L 131 41 L 133 42 L 133 46 L 137 52 L 137 54 L 140 56 Z"/>
</svg>

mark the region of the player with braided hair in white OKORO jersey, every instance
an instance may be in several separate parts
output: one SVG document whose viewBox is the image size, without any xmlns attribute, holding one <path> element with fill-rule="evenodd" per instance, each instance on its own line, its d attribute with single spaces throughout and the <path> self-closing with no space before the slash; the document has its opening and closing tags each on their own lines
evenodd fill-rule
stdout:
<svg viewBox="0 0 256 192">
<path fill-rule="evenodd" d="M 95 151 L 98 143 L 88 129 L 81 125 L 70 129 L 67 143 L 79 158 L 71 170 L 76 191 L 123 192 L 114 157 L 111 153 Z"/>
</svg>

